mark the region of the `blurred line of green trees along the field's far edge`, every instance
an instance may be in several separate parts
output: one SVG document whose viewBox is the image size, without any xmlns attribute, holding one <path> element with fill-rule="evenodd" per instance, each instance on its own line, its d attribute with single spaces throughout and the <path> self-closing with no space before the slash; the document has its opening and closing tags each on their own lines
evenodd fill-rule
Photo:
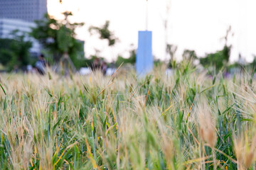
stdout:
<svg viewBox="0 0 256 170">
<path fill-rule="evenodd" d="M 80 67 L 91 67 L 96 58 L 104 60 L 104 57 L 98 55 L 99 52 L 95 52 L 96 55 L 92 55 L 90 58 L 85 58 L 84 42 L 76 39 L 75 33 L 75 28 L 84 26 L 84 23 L 70 23 L 69 18 L 72 15 L 70 12 L 65 12 L 63 13 L 63 20 L 55 20 L 55 18 L 46 14 L 42 20 L 35 21 L 36 27 L 31 28 L 30 33 L 21 33 L 18 30 L 14 30 L 10 33 L 9 38 L 1 38 L 0 63 L 4 67 L 0 67 L 0 69 L 5 69 L 6 71 L 26 70 L 28 64 L 33 66 L 37 60 L 37 56 L 29 52 L 32 47 L 32 38 L 38 40 L 42 45 L 42 53 L 46 56 L 48 63 L 52 65 L 58 64 L 64 54 L 68 54 L 70 61 L 73 62 L 76 69 Z M 118 38 L 110 31 L 109 26 L 110 22 L 106 21 L 101 27 L 90 26 L 88 31 L 91 35 L 98 35 L 101 40 L 107 40 L 109 47 L 113 47 L 118 41 Z M 215 72 L 221 69 L 227 71 L 233 67 L 240 67 L 241 63 L 239 62 L 229 64 L 232 45 L 228 45 L 228 37 L 232 35 L 231 27 L 229 27 L 223 38 L 225 45 L 222 50 L 206 54 L 205 56 L 196 55 L 194 50 L 184 50 L 182 58 L 183 60 L 191 60 L 195 66 L 201 65 L 205 69 Z M 166 54 L 169 55 L 169 68 L 173 68 L 176 65 L 177 48 L 176 45 L 166 45 Z M 242 57 L 240 57 L 241 59 Z M 136 50 L 132 47 L 129 50 L 129 57 L 124 58 L 119 55 L 114 65 L 116 67 L 122 63 L 134 65 L 135 62 Z M 155 64 L 159 63 L 163 62 L 159 60 L 155 61 Z M 255 64 L 256 60 L 247 65 L 254 67 Z"/>
</svg>

